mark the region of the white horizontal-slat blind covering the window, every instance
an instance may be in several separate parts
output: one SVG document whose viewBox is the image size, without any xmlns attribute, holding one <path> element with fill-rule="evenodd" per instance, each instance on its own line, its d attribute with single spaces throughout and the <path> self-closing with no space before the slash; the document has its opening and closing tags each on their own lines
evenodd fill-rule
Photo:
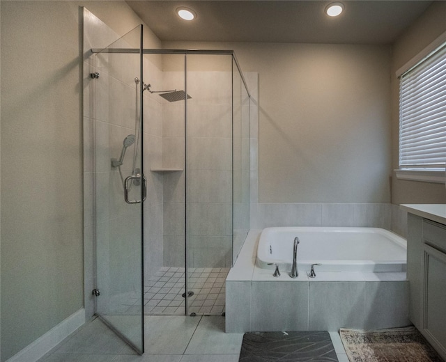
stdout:
<svg viewBox="0 0 446 362">
<path fill-rule="evenodd" d="M 400 77 L 399 168 L 445 168 L 446 43 Z"/>
</svg>

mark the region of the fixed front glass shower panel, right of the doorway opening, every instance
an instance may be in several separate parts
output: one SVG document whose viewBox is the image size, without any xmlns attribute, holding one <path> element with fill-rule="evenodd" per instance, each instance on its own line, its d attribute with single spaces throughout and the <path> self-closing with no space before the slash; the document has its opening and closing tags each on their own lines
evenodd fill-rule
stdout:
<svg viewBox="0 0 446 362">
<path fill-rule="evenodd" d="M 224 312 L 233 233 L 231 59 L 187 55 L 187 314 Z"/>
</svg>

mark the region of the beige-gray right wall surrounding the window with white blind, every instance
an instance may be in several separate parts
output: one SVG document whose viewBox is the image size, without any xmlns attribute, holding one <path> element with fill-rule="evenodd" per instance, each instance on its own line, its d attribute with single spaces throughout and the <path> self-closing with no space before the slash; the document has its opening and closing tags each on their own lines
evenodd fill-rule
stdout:
<svg viewBox="0 0 446 362">
<path fill-rule="evenodd" d="M 393 45 L 392 55 L 392 168 L 398 168 L 399 80 L 395 72 L 446 31 L 446 1 L 433 1 Z M 392 177 L 392 203 L 446 203 L 445 184 L 397 180 Z"/>
</svg>

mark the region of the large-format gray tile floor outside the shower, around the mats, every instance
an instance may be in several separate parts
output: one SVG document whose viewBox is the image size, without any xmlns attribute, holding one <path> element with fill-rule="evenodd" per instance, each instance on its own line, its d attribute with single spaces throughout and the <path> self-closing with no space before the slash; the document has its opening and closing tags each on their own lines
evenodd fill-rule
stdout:
<svg viewBox="0 0 446 362">
<path fill-rule="evenodd" d="M 39 362 L 238 362 L 243 333 L 224 333 L 222 316 L 146 315 L 145 324 L 143 356 L 96 318 Z M 348 362 L 339 334 L 330 336 L 339 362 Z"/>
</svg>

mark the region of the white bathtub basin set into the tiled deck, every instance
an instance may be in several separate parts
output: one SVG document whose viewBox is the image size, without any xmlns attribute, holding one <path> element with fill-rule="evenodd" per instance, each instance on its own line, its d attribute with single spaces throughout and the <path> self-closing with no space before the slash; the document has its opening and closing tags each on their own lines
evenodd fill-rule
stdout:
<svg viewBox="0 0 446 362">
<path fill-rule="evenodd" d="M 380 228 L 266 228 L 257 248 L 256 264 L 290 270 L 293 241 L 299 238 L 298 270 L 309 272 L 406 272 L 406 240 Z"/>
</svg>

